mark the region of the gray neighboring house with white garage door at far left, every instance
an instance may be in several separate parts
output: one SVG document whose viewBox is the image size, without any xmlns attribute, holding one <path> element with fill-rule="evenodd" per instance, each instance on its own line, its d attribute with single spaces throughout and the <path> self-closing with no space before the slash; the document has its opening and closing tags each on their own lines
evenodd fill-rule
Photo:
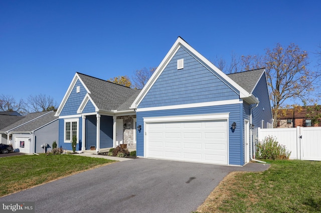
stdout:
<svg viewBox="0 0 321 213">
<path fill-rule="evenodd" d="M 58 143 L 58 118 L 54 115 L 54 111 L 43 111 L 17 116 L 21 119 L 0 129 L 1 143 L 13 144 L 16 152 L 50 151 L 53 141 Z"/>
</svg>

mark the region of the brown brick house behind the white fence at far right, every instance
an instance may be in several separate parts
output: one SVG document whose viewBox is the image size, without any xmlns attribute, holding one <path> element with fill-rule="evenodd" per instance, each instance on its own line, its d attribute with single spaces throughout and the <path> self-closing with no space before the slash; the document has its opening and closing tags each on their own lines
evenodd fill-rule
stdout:
<svg viewBox="0 0 321 213">
<path fill-rule="evenodd" d="M 309 112 L 307 107 L 315 106 L 296 106 L 294 108 L 283 108 L 278 110 L 278 119 L 276 120 L 277 128 L 291 128 L 297 126 L 321 126 L 321 122 L 313 123 L 311 116 L 308 116 Z M 321 111 L 316 111 L 321 114 Z"/>
</svg>

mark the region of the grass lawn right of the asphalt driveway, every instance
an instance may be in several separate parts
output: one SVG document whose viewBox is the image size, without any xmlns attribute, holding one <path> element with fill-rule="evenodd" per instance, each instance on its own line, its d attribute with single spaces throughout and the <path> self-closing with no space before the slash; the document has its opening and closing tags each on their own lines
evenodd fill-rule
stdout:
<svg viewBox="0 0 321 213">
<path fill-rule="evenodd" d="M 321 212 L 321 162 L 268 161 L 264 172 L 233 172 L 198 212 Z"/>
</svg>

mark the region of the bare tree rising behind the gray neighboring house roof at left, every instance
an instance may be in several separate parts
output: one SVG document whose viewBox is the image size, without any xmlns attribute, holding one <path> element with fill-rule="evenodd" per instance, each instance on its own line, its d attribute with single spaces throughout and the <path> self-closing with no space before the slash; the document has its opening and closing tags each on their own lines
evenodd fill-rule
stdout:
<svg viewBox="0 0 321 213">
<path fill-rule="evenodd" d="M 29 95 L 26 104 L 28 107 L 28 112 L 39 112 L 57 109 L 57 103 L 54 101 L 54 98 L 50 95 L 47 96 L 46 94 Z"/>
</svg>

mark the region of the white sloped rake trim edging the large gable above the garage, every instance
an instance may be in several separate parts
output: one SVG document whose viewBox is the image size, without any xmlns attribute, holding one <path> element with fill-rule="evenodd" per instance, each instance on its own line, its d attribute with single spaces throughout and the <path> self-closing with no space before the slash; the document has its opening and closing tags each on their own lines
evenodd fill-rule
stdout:
<svg viewBox="0 0 321 213">
<path fill-rule="evenodd" d="M 155 72 L 151 75 L 150 79 L 147 81 L 146 85 L 143 87 L 143 89 L 140 91 L 136 99 L 131 105 L 131 108 L 137 108 L 138 104 L 141 102 L 141 100 L 144 98 L 146 93 L 149 91 L 151 86 L 154 84 L 156 79 L 159 75 L 164 71 L 166 65 L 169 63 L 169 61 L 173 58 L 175 53 L 178 51 L 179 47 L 182 46 L 184 49 L 187 49 L 192 54 L 194 54 L 197 58 L 199 58 L 201 61 L 203 61 L 206 66 L 213 69 L 218 75 L 220 75 L 225 81 L 230 83 L 233 87 L 235 87 L 240 92 L 240 98 L 246 98 L 249 97 L 250 94 L 242 88 L 239 84 L 237 84 L 234 80 L 232 80 L 230 77 L 228 77 L 224 72 L 222 72 L 219 68 L 217 68 L 213 63 L 211 63 L 208 59 L 206 59 L 203 55 L 201 55 L 198 51 L 196 51 L 190 44 L 188 44 L 183 38 L 178 37 L 170 51 L 166 54 L 164 59 L 162 60 L 161 64 L 157 67 Z M 196 59 L 197 59 L 196 58 Z M 251 100 L 253 98 L 250 98 Z"/>
</svg>

